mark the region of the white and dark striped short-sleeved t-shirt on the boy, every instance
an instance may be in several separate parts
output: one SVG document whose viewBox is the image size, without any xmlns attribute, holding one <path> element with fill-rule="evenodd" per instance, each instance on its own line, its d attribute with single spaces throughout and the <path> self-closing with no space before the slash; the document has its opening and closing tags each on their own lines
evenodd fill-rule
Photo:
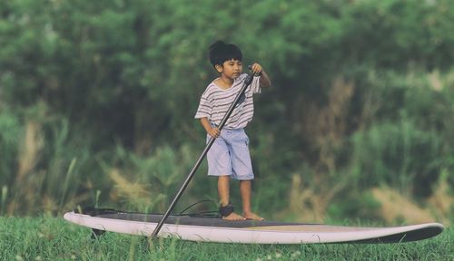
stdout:
<svg viewBox="0 0 454 261">
<path fill-rule="evenodd" d="M 242 84 L 248 74 L 242 73 L 235 79 L 229 89 L 222 89 L 216 83 L 212 82 L 206 87 L 202 94 L 199 108 L 195 113 L 195 119 L 203 117 L 208 118 L 208 121 L 219 125 L 225 113 L 229 111 L 232 102 L 235 100 L 238 92 L 242 90 Z M 253 77 L 251 85 L 244 93 L 245 98 L 240 99 L 235 109 L 232 111 L 229 120 L 225 122 L 224 127 L 228 129 L 242 129 L 252 121 L 254 113 L 253 94 L 260 93 L 260 76 Z"/>
</svg>

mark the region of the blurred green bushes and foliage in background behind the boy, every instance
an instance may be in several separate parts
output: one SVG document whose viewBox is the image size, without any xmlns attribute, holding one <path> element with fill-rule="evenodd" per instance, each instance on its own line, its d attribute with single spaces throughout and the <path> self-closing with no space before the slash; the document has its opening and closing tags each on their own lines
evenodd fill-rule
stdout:
<svg viewBox="0 0 454 261">
<path fill-rule="evenodd" d="M 273 83 L 248 126 L 256 208 L 287 208 L 292 175 L 347 184 L 339 197 L 388 184 L 429 198 L 454 169 L 452 24 L 449 0 L 2 1 L 2 211 L 94 204 L 96 191 L 122 206 L 113 169 L 162 211 L 203 148 L 192 117 L 217 39 Z M 216 198 L 203 169 L 184 203 Z"/>
</svg>

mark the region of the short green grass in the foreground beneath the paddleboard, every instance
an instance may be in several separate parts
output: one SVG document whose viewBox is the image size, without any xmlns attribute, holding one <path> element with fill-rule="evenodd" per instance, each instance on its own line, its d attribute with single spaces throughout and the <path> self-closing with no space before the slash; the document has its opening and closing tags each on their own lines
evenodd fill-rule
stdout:
<svg viewBox="0 0 454 261">
<path fill-rule="evenodd" d="M 63 218 L 0 218 L 2 260 L 454 260 L 454 229 L 401 244 L 242 245 L 106 233 Z"/>
</svg>

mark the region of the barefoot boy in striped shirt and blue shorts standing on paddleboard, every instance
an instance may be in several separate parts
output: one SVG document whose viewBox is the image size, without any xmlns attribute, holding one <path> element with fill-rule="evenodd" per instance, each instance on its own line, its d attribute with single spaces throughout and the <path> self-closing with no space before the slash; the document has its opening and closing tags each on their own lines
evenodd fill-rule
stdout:
<svg viewBox="0 0 454 261">
<path fill-rule="evenodd" d="M 247 74 L 242 73 L 242 52 L 236 45 L 217 41 L 210 46 L 209 58 L 220 77 L 212 81 L 203 92 L 194 118 L 200 119 L 207 132 L 207 141 L 210 136 L 216 138 L 208 151 L 207 160 L 208 175 L 218 177 L 221 216 L 227 220 L 263 220 L 251 210 L 251 180 L 254 176 L 248 148 L 249 138 L 244 127 L 252 121 L 253 94 L 260 93 L 262 87 L 270 87 L 270 78 L 259 63 L 252 64 L 252 73 L 256 76 L 222 131 L 219 131 L 217 126 L 242 89 Z M 235 213 L 230 203 L 231 178 L 240 180 L 242 215 Z"/>
</svg>

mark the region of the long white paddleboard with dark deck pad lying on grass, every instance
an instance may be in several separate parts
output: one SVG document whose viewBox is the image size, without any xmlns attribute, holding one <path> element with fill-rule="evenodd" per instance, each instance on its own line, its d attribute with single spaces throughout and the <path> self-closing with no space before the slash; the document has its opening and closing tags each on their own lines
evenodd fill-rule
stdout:
<svg viewBox="0 0 454 261">
<path fill-rule="evenodd" d="M 64 214 L 74 224 L 93 228 L 96 232 L 111 231 L 150 237 L 162 215 L 94 209 Z M 275 221 L 227 221 L 222 218 L 170 216 L 158 237 L 183 240 L 251 243 L 251 244 L 318 244 L 318 243 L 398 243 L 435 237 L 443 231 L 439 223 L 403 227 L 342 227 L 321 224 Z"/>
</svg>

